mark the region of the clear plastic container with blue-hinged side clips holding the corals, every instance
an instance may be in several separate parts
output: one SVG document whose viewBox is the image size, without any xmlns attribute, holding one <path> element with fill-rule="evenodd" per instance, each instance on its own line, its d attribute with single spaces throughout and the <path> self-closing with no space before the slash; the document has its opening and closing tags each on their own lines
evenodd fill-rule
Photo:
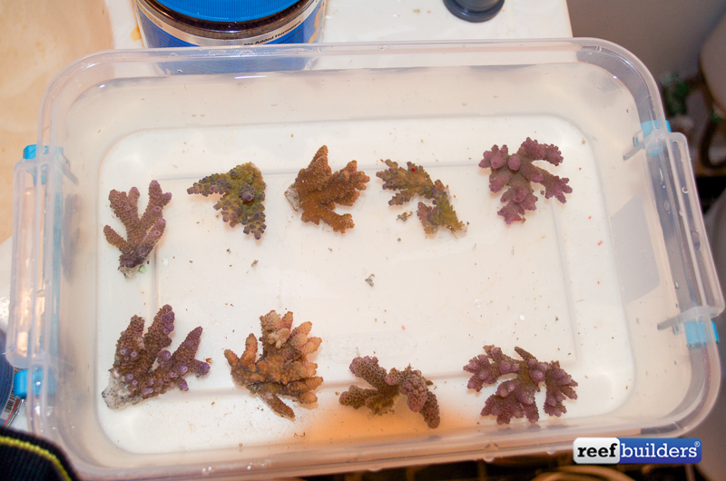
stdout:
<svg viewBox="0 0 726 481">
<path fill-rule="evenodd" d="M 300 59 L 308 69 L 285 70 Z M 86 57 L 48 89 L 38 155 L 15 174 L 8 357 L 33 372 L 32 429 L 94 478 L 303 475 L 682 435 L 719 388 L 711 318 L 723 299 L 685 139 L 664 126 L 643 64 L 591 39 Z M 477 163 L 526 137 L 560 147 L 552 172 L 574 191 L 506 226 Z M 302 223 L 283 195 L 323 144 L 333 170 L 355 159 L 371 178 L 338 208 L 356 223 L 345 234 Z M 382 159 L 447 184 L 466 234 L 427 237 L 415 216 L 397 220 L 415 205 L 388 206 Z M 186 193 L 242 162 L 268 184 L 260 241 Z M 167 231 L 127 280 L 103 238 L 103 225 L 120 227 L 108 193 L 137 186 L 145 205 L 153 179 L 172 191 Z M 188 392 L 108 409 L 116 339 L 132 315 L 150 321 L 167 303 L 171 348 L 201 325 L 197 358 L 212 359 L 210 374 Z M 222 355 L 259 335 L 270 309 L 311 321 L 323 339 L 311 357 L 325 378 L 319 402 L 291 403 L 294 423 L 235 387 Z M 538 426 L 481 417 L 495 386 L 468 390 L 463 367 L 489 344 L 559 360 L 578 399 Z M 362 385 L 348 371 L 358 355 L 420 369 L 440 427 L 404 400 L 382 417 L 340 406 L 339 392 Z"/>
</svg>

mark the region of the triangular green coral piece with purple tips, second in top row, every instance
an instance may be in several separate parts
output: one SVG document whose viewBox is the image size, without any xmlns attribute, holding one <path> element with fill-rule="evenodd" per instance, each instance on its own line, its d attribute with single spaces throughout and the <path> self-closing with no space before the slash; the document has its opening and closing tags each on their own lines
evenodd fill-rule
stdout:
<svg viewBox="0 0 726 481">
<path fill-rule="evenodd" d="M 214 209 L 221 210 L 222 221 L 229 222 L 230 227 L 242 224 L 245 234 L 252 234 L 255 239 L 262 237 L 265 225 L 266 184 L 262 181 L 260 169 L 252 162 L 238 165 L 227 173 L 212 173 L 199 182 L 194 182 L 187 193 L 201 193 L 204 197 L 210 194 L 221 194 Z"/>
</svg>

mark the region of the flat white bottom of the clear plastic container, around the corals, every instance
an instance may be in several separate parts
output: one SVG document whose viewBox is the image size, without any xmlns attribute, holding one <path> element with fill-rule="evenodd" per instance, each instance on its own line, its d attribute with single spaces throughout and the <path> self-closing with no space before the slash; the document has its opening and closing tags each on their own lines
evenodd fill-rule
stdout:
<svg viewBox="0 0 726 481">
<path fill-rule="evenodd" d="M 567 202 L 539 198 L 526 221 L 506 226 L 497 215 L 498 194 L 489 191 L 488 170 L 477 164 L 493 143 L 515 152 L 526 137 L 559 146 L 564 162 L 549 172 L 570 179 Z M 593 151 L 586 135 L 549 115 L 357 120 L 336 123 L 273 123 L 145 130 L 113 145 L 99 172 L 99 225 L 123 230 L 108 207 L 108 191 L 142 191 L 155 179 L 172 192 L 164 210 L 167 230 L 147 271 L 130 281 L 116 270 L 118 250 L 98 230 L 99 312 L 97 390 L 100 423 L 119 447 L 132 452 L 255 446 L 288 446 L 356 438 L 437 436 L 462 428 L 495 426 L 480 417 L 486 397 L 466 388 L 470 358 L 495 344 L 516 358 L 514 347 L 541 361 L 559 360 L 578 382 L 578 399 L 566 401 L 562 418 L 589 417 L 623 403 L 633 361 L 622 311 L 613 250 Z M 452 142 L 456 139 L 456 142 Z M 300 221 L 283 193 L 327 144 L 333 171 L 357 160 L 371 181 L 349 212 L 355 227 L 345 234 Z M 446 229 L 427 237 L 415 198 L 388 206 L 376 172 L 391 159 L 423 165 L 432 180 L 448 185 L 465 234 Z M 267 230 L 260 241 L 241 226 L 230 228 L 212 209 L 214 196 L 186 190 L 212 172 L 254 162 L 267 182 Z M 398 214 L 413 212 L 406 221 Z M 257 263 L 252 265 L 255 261 Z M 373 285 L 366 279 L 371 276 Z M 176 313 L 172 350 L 202 326 L 197 358 L 211 358 L 205 378 L 187 378 L 177 389 L 139 405 L 111 410 L 101 390 L 108 382 L 113 347 L 131 316 L 151 323 L 156 310 Z M 317 405 L 286 400 L 291 422 L 257 396 L 232 383 L 223 357 L 238 355 L 244 339 L 260 336 L 260 315 L 294 312 L 294 325 L 311 321 L 310 335 L 323 342 L 310 356 L 325 379 Z M 426 427 L 400 399 L 395 412 L 372 417 L 343 407 L 338 394 L 356 383 L 348 365 L 356 356 L 377 356 L 385 368 L 410 363 L 435 385 L 441 425 Z M 542 420 L 544 389 L 537 396 Z M 515 423 L 526 420 L 513 420 Z M 555 423 L 558 421 L 554 421 Z M 304 437 L 302 437 L 304 434 Z"/>
</svg>

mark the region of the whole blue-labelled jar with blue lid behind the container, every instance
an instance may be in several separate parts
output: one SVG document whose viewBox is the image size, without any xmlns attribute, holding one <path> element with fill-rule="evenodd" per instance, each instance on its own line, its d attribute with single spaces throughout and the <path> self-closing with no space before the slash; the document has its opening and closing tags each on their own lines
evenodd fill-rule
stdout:
<svg viewBox="0 0 726 481">
<path fill-rule="evenodd" d="M 143 44 L 181 46 L 317 42 L 325 0 L 134 0 Z"/>
</svg>

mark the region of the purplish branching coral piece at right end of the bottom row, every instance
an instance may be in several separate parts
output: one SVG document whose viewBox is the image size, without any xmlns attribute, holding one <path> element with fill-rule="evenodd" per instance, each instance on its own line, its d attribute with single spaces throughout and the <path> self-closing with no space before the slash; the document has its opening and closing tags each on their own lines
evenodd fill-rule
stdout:
<svg viewBox="0 0 726 481">
<path fill-rule="evenodd" d="M 474 374 L 469 378 L 467 388 L 480 391 L 485 384 L 494 384 L 496 380 L 507 374 L 515 378 L 505 380 L 496 388 L 495 394 L 486 399 L 481 415 L 496 416 L 497 424 L 509 424 L 512 417 L 527 417 L 531 423 L 539 419 L 539 411 L 535 404 L 535 392 L 544 383 L 544 412 L 550 416 L 560 417 L 567 412 L 562 403 L 565 398 L 576 399 L 574 388 L 577 382 L 560 368 L 559 361 L 540 362 L 523 348 L 515 348 L 522 360 L 506 356 L 502 349 L 485 346 L 485 354 L 469 360 L 464 367 L 466 372 Z"/>
</svg>

